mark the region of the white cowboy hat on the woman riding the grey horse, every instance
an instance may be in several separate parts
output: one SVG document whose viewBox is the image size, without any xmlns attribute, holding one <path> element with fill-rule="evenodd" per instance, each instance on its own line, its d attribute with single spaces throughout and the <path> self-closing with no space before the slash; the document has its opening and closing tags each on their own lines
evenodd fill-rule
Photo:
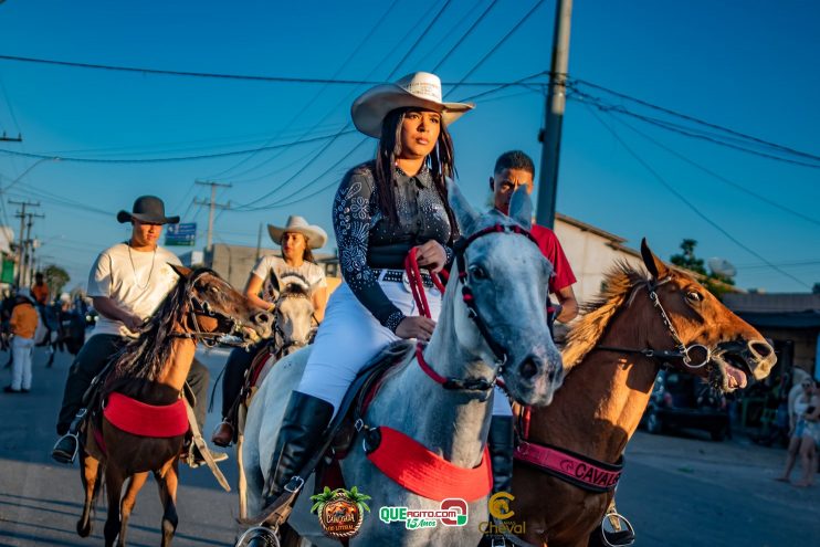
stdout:
<svg viewBox="0 0 820 547">
<path fill-rule="evenodd" d="M 379 138 L 385 116 L 390 111 L 409 106 L 441 113 L 445 126 L 475 107 L 472 103 L 443 103 L 439 76 L 429 72 L 414 72 L 395 84 L 377 85 L 366 91 L 354 101 L 350 116 L 358 130 Z"/>
</svg>

